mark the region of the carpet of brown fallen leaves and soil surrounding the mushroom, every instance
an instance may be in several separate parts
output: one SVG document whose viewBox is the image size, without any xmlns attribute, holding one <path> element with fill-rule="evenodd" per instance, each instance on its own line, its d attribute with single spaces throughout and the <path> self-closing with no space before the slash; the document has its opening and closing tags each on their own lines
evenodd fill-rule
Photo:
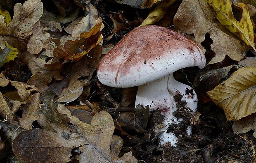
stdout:
<svg viewBox="0 0 256 163">
<path fill-rule="evenodd" d="M 7 41 L 19 53 L 14 55 L 14 61 L 9 60 L 1 67 L 0 160 L 8 157 L 9 162 L 24 163 L 254 161 L 251 151 L 243 158 L 246 154 L 240 150 L 256 143 L 252 134 L 247 133 L 255 130 L 253 107 L 246 114 L 237 114 L 238 121 L 231 118 L 235 120 L 231 125 L 226 117 L 232 117 L 235 110 L 227 108 L 223 114 L 206 94 L 241 71 L 239 74 L 247 77 L 235 78 L 237 87 L 248 84 L 251 78 L 254 80 L 248 77 L 251 73 L 244 73 L 244 69 L 254 70 L 255 64 L 254 52 L 248 52 L 254 46 L 253 21 L 252 26 L 249 24 L 254 18 L 249 20 L 248 16 L 255 10 L 253 2 L 242 1 L 252 6 L 237 8 L 243 21 L 234 21 L 235 10 L 230 11 L 230 7 L 225 10 L 232 14 L 226 19 L 233 25 L 249 25 L 243 29 L 239 26 L 243 34 L 238 37 L 233 28 L 227 30 L 223 22 L 216 21 L 221 16 L 214 14 L 216 9 L 212 10 L 214 7 L 203 0 L 119 2 L 130 5 L 129 9 L 112 2 L 75 2 L 78 7 L 70 2 L 66 9 L 65 4 L 55 2 L 58 15 L 40 0 L 28 0 L 13 7 L 9 25 L 0 16 L 1 49 Z M 168 131 L 180 138 L 177 148 L 158 146 L 158 133 L 153 131 L 155 125 L 161 124 L 161 114 L 156 111 L 149 116 L 147 107 L 133 107 L 136 87 L 120 90 L 106 87 L 95 76 L 102 54 L 133 28 L 152 23 L 175 25 L 175 29 L 201 45 L 208 58 L 206 69 L 175 73 L 175 78 L 193 83 L 201 102 L 192 120 L 184 110 L 175 112 L 193 129 L 188 135 L 183 124 L 169 126 Z M 251 39 L 247 39 L 246 32 Z M 6 50 L 1 53 L 9 55 Z M 242 60 L 244 55 L 246 59 Z M 214 95 L 220 96 L 221 91 Z M 242 92 L 250 91 L 253 92 Z M 232 100 L 244 105 L 239 98 Z M 253 104 L 250 98 L 247 102 Z M 240 110 L 246 109 L 240 107 Z M 230 142 L 223 138 L 230 138 Z"/>
</svg>

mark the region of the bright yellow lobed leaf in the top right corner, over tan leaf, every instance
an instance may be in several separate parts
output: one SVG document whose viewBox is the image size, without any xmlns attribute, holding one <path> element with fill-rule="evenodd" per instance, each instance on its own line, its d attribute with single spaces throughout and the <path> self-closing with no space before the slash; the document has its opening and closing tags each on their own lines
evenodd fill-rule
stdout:
<svg viewBox="0 0 256 163">
<path fill-rule="evenodd" d="M 239 39 L 243 40 L 248 46 L 255 49 L 254 29 L 251 22 L 247 5 L 237 4 L 242 8 L 242 18 L 237 21 L 232 13 L 230 0 L 204 0 L 213 10 L 218 21 L 224 25 L 230 32 L 236 34 Z"/>
</svg>

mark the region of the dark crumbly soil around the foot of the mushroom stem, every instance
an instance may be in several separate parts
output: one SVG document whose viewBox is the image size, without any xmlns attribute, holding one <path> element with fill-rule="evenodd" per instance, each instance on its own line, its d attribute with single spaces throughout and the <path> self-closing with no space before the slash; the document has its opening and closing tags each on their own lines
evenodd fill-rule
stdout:
<svg viewBox="0 0 256 163">
<path fill-rule="evenodd" d="M 254 161 L 256 143 L 252 131 L 235 135 L 232 122 L 227 122 L 222 110 L 212 102 L 198 108 L 201 113 L 196 124 L 192 125 L 192 134 L 187 135 L 186 127 L 190 120 L 171 125 L 173 133 L 179 138 L 177 147 L 168 145 L 159 147 L 159 139 L 152 131 L 155 124 L 161 122 L 161 113 L 152 113 L 148 130 L 136 138 L 125 139 L 124 150 L 131 149 L 139 163 L 251 163 Z M 176 115 L 184 117 L 179 111 Z M 186 118 L 186 117 L 184 117 Z M 124 151 L 125 152 L 125 151 Z"/>
</svg>

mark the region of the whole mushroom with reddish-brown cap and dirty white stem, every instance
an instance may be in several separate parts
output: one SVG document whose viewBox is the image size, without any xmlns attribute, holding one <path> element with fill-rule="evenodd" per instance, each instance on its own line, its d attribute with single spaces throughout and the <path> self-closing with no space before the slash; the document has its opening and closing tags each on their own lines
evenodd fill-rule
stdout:
<svg viewBox="0 0 256 163">
<path fill-rule="evenodd" d="M 176 146 L 177 138 L 166 133 L 172 123 L 182 119 L 173 116 L 177 110 L 175 95 L 181 95 L 187 108 L 197 109 L 197 95 L 194 90 L 173 78 L 173 72 L 185 67 L 205 66 L 204 52 L 195 42 L 183 35 L 156 25 L 136 28 L 126 34 L 97 67 L 100 82 L 110 87 L 138 86 L 135 106 L 150 106 L 150 111 L 161 110 L 163 127 L 156 131 L 161 144 L 170 142 Z M 189 129 L 190 127 L 188 127 Z"/>
</svg>

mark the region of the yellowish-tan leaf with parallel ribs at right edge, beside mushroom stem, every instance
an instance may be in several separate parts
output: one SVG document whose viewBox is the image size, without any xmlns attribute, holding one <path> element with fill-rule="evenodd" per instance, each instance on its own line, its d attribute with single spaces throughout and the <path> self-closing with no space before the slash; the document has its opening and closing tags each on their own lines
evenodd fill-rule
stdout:
<svg viewBox="0 0 256 163">
<path fill-rule="evenodd" d="M 243 67 L 229 79 L 207 92 L 225 112 L 227 120 L 237 121 L 256 112 L 256 67 Z"/>
</svg>

